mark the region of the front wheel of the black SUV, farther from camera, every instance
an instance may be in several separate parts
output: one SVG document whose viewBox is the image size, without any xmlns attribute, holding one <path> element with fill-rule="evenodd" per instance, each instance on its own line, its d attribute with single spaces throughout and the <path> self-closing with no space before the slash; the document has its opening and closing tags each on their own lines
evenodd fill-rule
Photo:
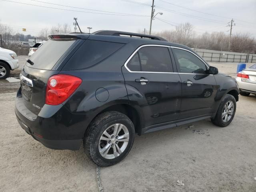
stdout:
<svg viewBox="0 0 256 192">
<path fill-rule="evenodd" d="M 211 120 L 213 124 L 217 126 L 226 127 L 232 122 L 235 113 L 236 99 L 234 98 L 234 96 L 226 94 L 226 96 L 224 96 L 224 98 L 222 98 L 222 101 L 220 102 L 220 106 L 218 108 L 216 116 Z"/>
</svg>

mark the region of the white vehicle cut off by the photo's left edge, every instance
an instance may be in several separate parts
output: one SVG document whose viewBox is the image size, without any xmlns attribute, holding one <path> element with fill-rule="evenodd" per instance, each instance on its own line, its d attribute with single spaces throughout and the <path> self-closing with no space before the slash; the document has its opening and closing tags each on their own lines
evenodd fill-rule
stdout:
<svg viewBox="0 0 256 192">
<path fill-rule="evenodd" d="M 19 60 L 12 50 L 0 48 L 0 79 L 6 79 L 10 70 L 19 68 Z"/>
</svg>

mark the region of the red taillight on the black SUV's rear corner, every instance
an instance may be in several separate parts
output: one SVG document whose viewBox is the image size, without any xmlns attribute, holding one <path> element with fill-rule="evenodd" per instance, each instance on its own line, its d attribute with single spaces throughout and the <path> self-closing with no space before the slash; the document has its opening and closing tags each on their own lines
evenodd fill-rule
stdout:
<svg viewBox="0 0 256 192">
<path fill-rule="evenodd" d="M 46 87 L 45 104 L 58 105 L 64 102 L 80 86 L 82 79 L 65 74 L 51 76 Z"/>
</svg>

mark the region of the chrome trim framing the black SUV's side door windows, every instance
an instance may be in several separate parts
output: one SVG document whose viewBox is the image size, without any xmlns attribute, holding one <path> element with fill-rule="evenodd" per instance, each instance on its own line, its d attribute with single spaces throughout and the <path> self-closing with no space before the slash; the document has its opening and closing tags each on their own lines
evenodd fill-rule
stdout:
<svg viewBox="0 0 256 192">
<path fill-rule="evenodd" d="M 180 47 L 175 47 L 175 46 L 169 46 L 169 45 L 158 45 L 158 44 L 146 44 L 146 45 L 141 45 L 139 46 L 131 55 L 130 57 L 126 60 L 126 62 L 124 63 L 124 67 L 128 70 L 128 72 L 130 73 L 162 73 L 162 74 L 192 74 L 192 75 L 212 75 L 212 74 L 202 74 L 202 73 L 178 73 L 178 72 L 152 72 L 152 71 L 132 71 L 127 67 L 128 62 L 132 59 L 132 57 L 138 52 L 138 50 L 140 50 L 143 47 L 166 47 L 166 48 L 178 48 L 178 49 L 182 49 L 185 51 L 188 51 L 192 54 L 194 54 L 193 52 L 191 52 L 190 50 L 184 49 L 184 48 L 180 48 Z M 196 57 L 198 57 L 196 54 L 194 54 Z M 205 65 L 206 68 L 209 69 L 209 66 L 200 58 L 198 57 Z"/>
</svg>

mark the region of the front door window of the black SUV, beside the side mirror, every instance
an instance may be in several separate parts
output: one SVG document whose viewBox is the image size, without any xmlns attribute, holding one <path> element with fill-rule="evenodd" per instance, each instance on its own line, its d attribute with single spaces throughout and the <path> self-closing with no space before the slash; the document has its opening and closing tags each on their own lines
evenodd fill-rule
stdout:
<svg viewBox="0 0 256 192">
<path fill-rule="evenodd" d="M 181 50 L 173 49 L 178 60 L 178 70 L 181 73 L 206 73 L 206 65 L 194 54 Z"/>
</svg>

